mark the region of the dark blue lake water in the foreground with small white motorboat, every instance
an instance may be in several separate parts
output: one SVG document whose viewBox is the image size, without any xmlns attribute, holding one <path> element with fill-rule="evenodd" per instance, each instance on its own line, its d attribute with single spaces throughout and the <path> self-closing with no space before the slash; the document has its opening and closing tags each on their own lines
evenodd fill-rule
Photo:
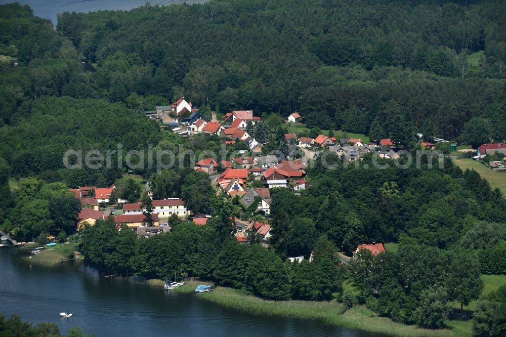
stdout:
<svg viewBox="0 0 506 337">
<path fill-rule="evenodd" d="M 81 326 L 97 336 L 346 336 L 375 334 L 300 319 L 252 316 L 198 299 L 104 278 L 82 263 L 31 266 L 18 248 L 0 248 L 0 313 L 30 323 L 57 323 L 62 333 Z M 72 311 L 71 318 L 59 313 Z"/>
</svg>

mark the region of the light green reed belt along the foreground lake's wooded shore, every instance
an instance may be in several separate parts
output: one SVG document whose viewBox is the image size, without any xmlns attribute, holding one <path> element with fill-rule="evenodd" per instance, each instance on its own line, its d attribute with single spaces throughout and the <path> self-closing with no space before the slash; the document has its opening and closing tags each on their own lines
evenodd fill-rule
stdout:
<svg viewBox="0 0 506 337">
<path fill-rule="evenodd" d="M 149 279 L 146 281 L 149 286 L 163 287 L 165 281 L 161 279 Z M 177 293 L 193 293 L 195 287 L 202 283 L 187 281 L 184 286 L 172 291 Z M 214 283 L 213 283 L 214 284 Z M 454 336 L 448 329 L 423 329 L 415 325 L 395 323 L 390 318 L 379 317 L 365 306 L 354 306 L 348 308 L 338 302 L 310 302 L 310 301 L 269 301 L 261 298 L 242 294 L 239 291 L 227 288 L 216 287 L 213 291 L 199 293 L 199 299 L 213 302 L 220 306 L 236 309 L 253 315 L 281 316 L 296 319 L 311 319 L 326 325 L 342 327 L 351 330 L 361 330 L 383 335 L 403 336 Z"/>
</svg>

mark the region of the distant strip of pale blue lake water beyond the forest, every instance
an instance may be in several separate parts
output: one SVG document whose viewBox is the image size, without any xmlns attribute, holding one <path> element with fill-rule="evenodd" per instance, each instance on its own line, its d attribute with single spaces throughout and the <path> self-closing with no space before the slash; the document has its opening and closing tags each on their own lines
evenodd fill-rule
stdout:
<svg viewBox="0 0 506 337">
<path fill-rule="evenodd" d="M 41 18 L 50 19 L 56 26 L 56 15 L 61 12 L 96 12 L 96 11 L 128 11 L 145 5 L 201 4 L 207 0 L 0 0 L 0 4 L 18 2 L 29 5 L 33 13 Z"/>
</svg>

